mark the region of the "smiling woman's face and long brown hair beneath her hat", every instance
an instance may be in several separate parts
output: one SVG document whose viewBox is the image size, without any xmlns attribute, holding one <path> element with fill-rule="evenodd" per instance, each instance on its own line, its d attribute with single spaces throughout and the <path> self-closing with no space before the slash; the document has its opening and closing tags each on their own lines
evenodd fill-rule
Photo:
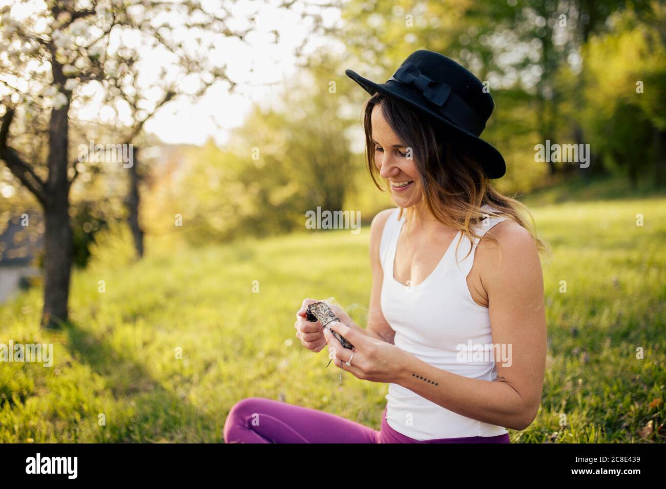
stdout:
<svg viewBox="0 0 666 489">
<path fill-rule="evenodd" d="M 404 210 L 409 224 L 415 224 L 420 214 L 463 231 L 470 240 L 480 238 L 473 224 L 482 220 L 486 214 L 482 206 L 488 204 L 496 210 L 491 214 L 511 218 L 529 232 L 539 251 L 547 250 L 535 236 L 527 208 L 490 185 L 475 154 L 478 148 L 456 142 L 458 135 L 451 128 L 376 93 L 365 106 L 364 130 L 370 175 L 380 190 L 384 189 L 378 179 L 384 180 L 400 208 L 399 217 Z M 419 212 L 422 207 L 426 216 Z"/>
</svg>

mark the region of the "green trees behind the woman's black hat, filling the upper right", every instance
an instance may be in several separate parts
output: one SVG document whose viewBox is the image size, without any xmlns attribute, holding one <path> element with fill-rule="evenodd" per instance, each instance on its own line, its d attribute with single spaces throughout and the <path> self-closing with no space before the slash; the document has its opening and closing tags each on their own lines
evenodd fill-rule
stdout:
<svg viewBox="0 0 666 489">
<path fill-rule="evenodd" d="M 507 163 L 497 186 L 525 193 L 573 170 L 563 162 L 534 161 L 535 144 L 545 140 L 590 144 L 592 165 L 579 176 L 616 171 L 635 183 L 636 173 L 666 171 L 659 169 L 663 150 L 632 154 L 646 138 L 648 147 L 666 141 L 665 8 L 647 0 L 352 0 L 343 11 L 343 36 L 350 65 L 370 79 L 388 79 L 407 55 L 430 49 L 488 82 L 496 108 L 482 137 Z M 610 119 L 626 106 L 621 98 L 635 95 L 637 81 L 645 92 L 627 101 L 641 108 L 633 118 L 639 124 L 621 127 Z M 605 147 L 611 140 L 621 152 Z M 657 181 L 663 186 L 666 177 Z"/>
</svg>

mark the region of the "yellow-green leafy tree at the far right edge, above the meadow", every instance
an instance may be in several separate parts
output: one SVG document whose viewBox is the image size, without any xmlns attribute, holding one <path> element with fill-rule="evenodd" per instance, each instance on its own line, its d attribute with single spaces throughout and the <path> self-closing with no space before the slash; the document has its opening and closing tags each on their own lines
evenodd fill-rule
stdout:
<svg viewBox="0 0 666 489">
<path fill-rule="evenodd" d="M 613 15 L 613 29 L 592 37 L 583 59 L 589 144 L 633 184 L 663 158 L 653 140 L 666 131 L 666 6 L 652 7 L 644 17 L 631 9 Z"/>
</svg>

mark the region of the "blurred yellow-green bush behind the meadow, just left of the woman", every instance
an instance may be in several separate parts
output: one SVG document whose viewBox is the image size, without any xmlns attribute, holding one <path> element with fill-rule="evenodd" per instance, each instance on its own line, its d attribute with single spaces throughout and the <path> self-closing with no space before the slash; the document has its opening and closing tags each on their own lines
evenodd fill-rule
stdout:
<svg viewBox="0 0 666 489">
<path fill-rule="evenodd" d="M 255 106 L 224 150 L 212 140 L 190 150 L 182 178 L 159 190 L 165 211 L 151 215 L 163 220 L 161 228 L 173 230 L 172 216 L 181 214 L 191 243 L 227 242 L 303 229 L 306 211 L 317 206 L 344 210 L 358 171 L 345 136 L 352 122 L 338 116 L 330 67 L 320 70 L 300 73 L 302 85 L 292 81 L 282 95 L 286 108 Z"/>
</svg>

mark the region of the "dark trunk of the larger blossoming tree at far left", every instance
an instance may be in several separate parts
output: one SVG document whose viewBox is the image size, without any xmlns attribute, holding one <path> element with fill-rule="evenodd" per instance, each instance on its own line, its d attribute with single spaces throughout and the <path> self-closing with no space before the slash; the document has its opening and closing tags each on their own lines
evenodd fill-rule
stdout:
<svg viewBox="0 0 666 489">
<path fill-rule="evenodd" d="M 72 228 L 69 222 L 69 101 L 53 109 L 49 122 L 49 179 L 46 182 L 44 220 L 44 310 L 41 324 L 57 328 L 67 321 L 69 281 L 74 257 Z"/>
</svg>

